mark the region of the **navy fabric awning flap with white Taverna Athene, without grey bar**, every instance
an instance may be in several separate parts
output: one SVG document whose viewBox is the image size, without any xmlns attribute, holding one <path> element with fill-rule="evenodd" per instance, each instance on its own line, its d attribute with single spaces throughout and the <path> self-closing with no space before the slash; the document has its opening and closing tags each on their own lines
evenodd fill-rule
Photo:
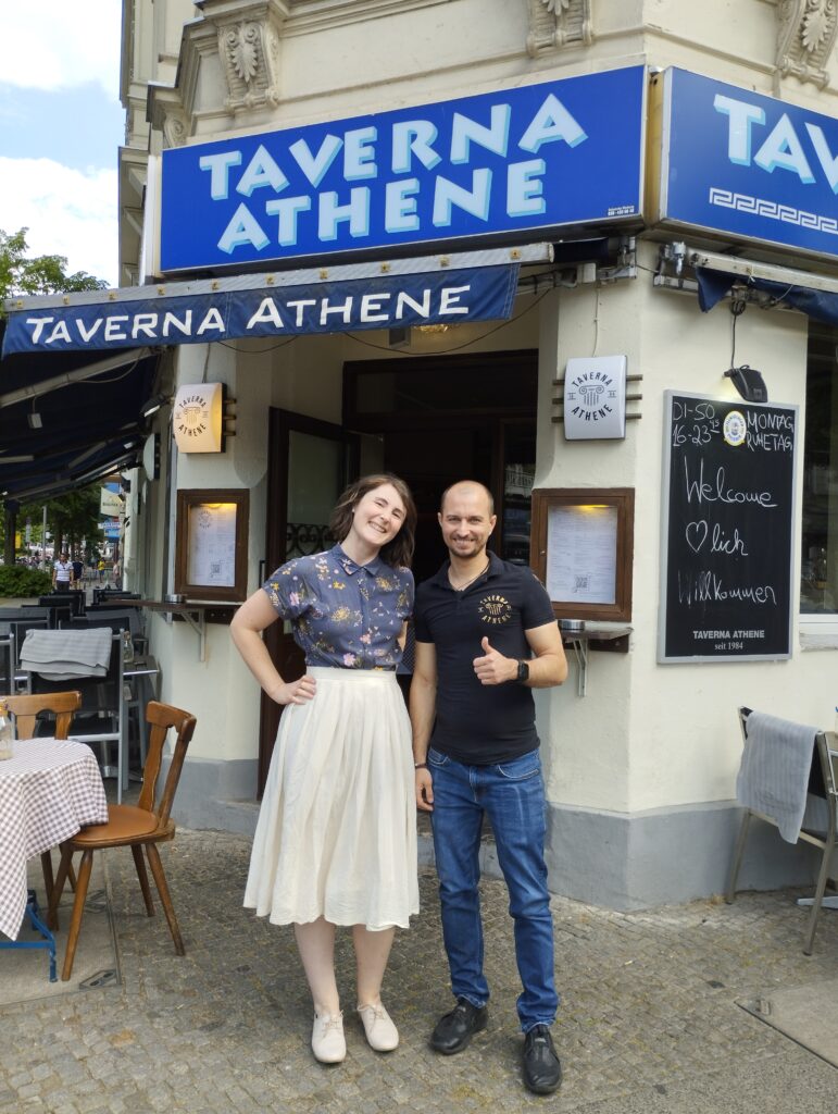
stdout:
<svg viewBox="0 0 838 1114">
<path fill-rule="evenodd" d="M 3 355 L 500 320 L 512 313 L 517 272 L 513 263 L 20 310 L 9 315 Z"/>
</svg>

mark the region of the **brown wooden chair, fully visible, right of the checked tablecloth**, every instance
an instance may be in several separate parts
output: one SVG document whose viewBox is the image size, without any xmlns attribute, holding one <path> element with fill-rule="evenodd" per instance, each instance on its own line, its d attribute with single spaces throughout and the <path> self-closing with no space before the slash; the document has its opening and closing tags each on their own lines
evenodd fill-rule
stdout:
<svg viewBox="0 0 838 1114">
<path fill-rule="evenodd" d="M 149 701 L 146 710 L 146 720 L 150 724 L 148 756 L 142 771 L 142 789 L 136 805 L 111 804 L 108 807 L 108 822 L 105 824 L 91 824 L 82 828 L 80 832 L 71 837 L 62 847 L 61 866 L 58 868 L 58 878 L 52 890 L 49 915 L 50 921 L 56 916 L 58 902 L 61 900 L 61 891 L 70 868 L 70 858 L 73 851 L 81 851 L 81 864 L 78 871 L 76 883 L 76 900 L 72 906 L 72 917 L 70 919 L 70 930 L 67 937 L 67 952 L 65 955 L 63 969 L 61 971 L 62 981 L 67 981 L 72 973 L 72 964 L 76 958 L 76 947 L 81 928 L 81 918 L 85 912 L 85 898 L 90 882 L 90 871 L 93 862 L 93 851 L 102 851 L 106 848 L 130 847 L 134 856 L 134 864 L 137 868 L 142 898 L 146 902 L 146 912 L 154 917 L 155 908 L 151 901 L 151 890 L 148 885 L 146 863 L 142 858 L 142 849 L 146 849 L 148 863 L 154 874 L 157 892 L 160 895 L 160 902 L 166 920 L 175 941 L 175 951 L 184 955 L 184 941 L 180 929 L 175 917 L 175 909 L 171 905 L 169 888 L 166 882 L 166 874 L 160 862 L 160 853 L 157 844 L 172 840 L 175 838 L 175 823 L 169 819 L 171 803 L 175 799 L 180 771 L 186 758 L 186 749 L 193 737 L 196 720 L 188 712 L 172 707 L 169 704 L 159 704 L 157 701 Z M 171 764 L 166 775 L 166 784 L 159 800 L 156 801 L 157 780 L 162 762 L 162 747 L 166 742 L 166 734 L 169 727 L 177 731 L 175 741 L 175 752 L 171 756 Z"/>
</svg>

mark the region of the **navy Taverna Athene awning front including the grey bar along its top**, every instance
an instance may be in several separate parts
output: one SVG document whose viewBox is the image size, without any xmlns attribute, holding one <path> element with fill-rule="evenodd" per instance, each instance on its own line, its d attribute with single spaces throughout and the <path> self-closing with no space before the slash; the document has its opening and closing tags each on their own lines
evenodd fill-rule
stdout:
<svg viewBox="0 0 838 1114">
<path fill-rule="evenodd" d="M 522 263 L 549 244 L 386 263 L 160 283 L 6 302 L 3 356 L 16 352 L 206 344 L 249 336 L 355 332 L 503 320 Z"/>
</svg>

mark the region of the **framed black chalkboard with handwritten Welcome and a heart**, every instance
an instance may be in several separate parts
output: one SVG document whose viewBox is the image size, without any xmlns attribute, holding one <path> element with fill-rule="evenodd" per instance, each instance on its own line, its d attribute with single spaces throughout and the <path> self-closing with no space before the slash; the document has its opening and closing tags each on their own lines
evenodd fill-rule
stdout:
<svg viewBox="0 0 838 1114">
<path fill-rule="evenodd" d="M 797 407 L 664 398 L 658 661 L 790 657 Z"/>
</svg>

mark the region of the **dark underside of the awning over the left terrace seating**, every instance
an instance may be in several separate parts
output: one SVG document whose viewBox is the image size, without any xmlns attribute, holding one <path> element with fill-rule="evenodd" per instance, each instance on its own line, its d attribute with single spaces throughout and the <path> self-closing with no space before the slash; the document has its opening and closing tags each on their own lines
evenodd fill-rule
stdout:
<svg viewBox="0 0 838 1114">
<path fill-rule="evenodd" d="M 0 321 L 0 334 L 4 329 Z M 159 354 L 144 348 L 11 355 L 0 363 L 0 496 L 48 498 L 134 465 Z"/>
</svg>

